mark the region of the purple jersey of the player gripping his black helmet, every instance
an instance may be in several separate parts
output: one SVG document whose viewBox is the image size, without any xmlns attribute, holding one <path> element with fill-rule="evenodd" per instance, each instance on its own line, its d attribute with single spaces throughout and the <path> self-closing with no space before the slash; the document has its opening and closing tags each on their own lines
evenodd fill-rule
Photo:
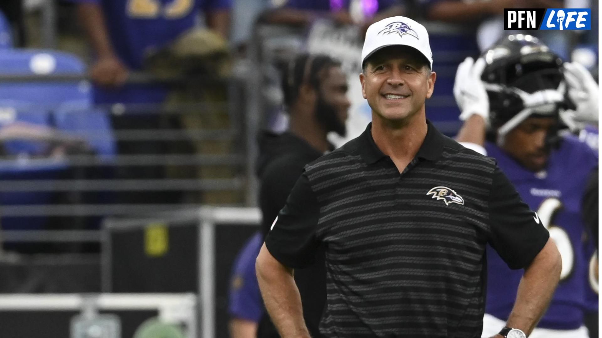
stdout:
<svg viewBox="0 0 602 338">
<path fill-rule="evenodd" d="M 545 171 L 533 173 L 521 167 L 494 144 L 486 144 L 487 155 L 498 165 L 538 218 L 550 230 L 562 256 L 559 286 L 550 308 L 538 327 L 572 330 L 583 324 L 583 313 L 591 310 L 585 286 L 591 255 L 586 249 L 588 229 L 582 220 L 582 197 L 597 154 L 576 137 L 565 137 L 552 150 Z M 507 319 L 517 296 L 523 271 L 510 270 L 491 247 L 487 250 L 488 289 L 486 313 Z"/>
</svg>

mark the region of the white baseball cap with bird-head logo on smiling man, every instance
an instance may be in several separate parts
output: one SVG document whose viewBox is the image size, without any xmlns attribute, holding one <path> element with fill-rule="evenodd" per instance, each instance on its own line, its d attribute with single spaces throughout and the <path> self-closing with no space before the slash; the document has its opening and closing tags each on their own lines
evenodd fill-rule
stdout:
<svg viewBox="0 0 602 338">
<path fill-rule="evenodd" d="M 421 52 L 433 69 L 433 52 L 430 51 L 429 33 L 423 25 L 409 17 L 392 16 L 375 22 L 366 31 L 362 48 L 362 65 L 374 52 L 388 46 L 409 46 Z"/>
</svg>

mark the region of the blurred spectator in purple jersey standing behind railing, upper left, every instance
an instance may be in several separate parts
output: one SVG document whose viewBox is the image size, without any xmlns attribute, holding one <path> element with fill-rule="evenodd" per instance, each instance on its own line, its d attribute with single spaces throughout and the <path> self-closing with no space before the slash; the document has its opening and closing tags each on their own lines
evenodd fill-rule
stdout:
<svg viewBox="0 0 602 338">
<path fill-rule="evenodd" d="M 119 106 L 119 114 L 110 115 L 114 130 L 128 133 L 132 130 L 142 132 L 159 129 L 213 129 L 215 124 L 226 120 L 223 117 L 226 115 L 223 109 L 211 109 L 210 113 L 217 116 L 214 119 L 215 124 L 205 123 L 200 126 L 202 116 L 199 111 L 195 110 L 193 114 L 181 114 L 183 109 L 189 107 L 185 105 L 190 103 L 188 97 L 192 95 L 188 94 L 189 91 L 194 91 L 196 87 L 170 86 L 148 80 L 137 81 L 131 74 L 143 72 L 156 75 L 157 72 L 163 72 L 168 76 L 182 77 L 181 69 L 176 65 L 184 68 L 187 67 L 186 63 L 176 61 L 170 63 L 165 60 L 169 60 L 171 55 L 176 54 L 172 51 L 175 41 L 181 41 L 182 38 L 190 35 L 194 37 L 197 35 L 194 34 L 195 32 L 202 32 L 208 40 L 201 42 L 193 40 L 196 43 L 188 43 L 190 55 L 200 54 L 199 49 L 202 50 L 207 45 L 226 45 L 231 0 L 70 1 L 77 3 L 79 20 L 88 35 L 94 54 L 89 72 L 94 83 L 95 104 L 100 105 L 101 108 L 104 106 L 113 108 L 116 103 L 123 104 Z M 205 14 L 206 26 L 209 29 L 196 29 L 201 14 Z M 173 50 L 175 49 L 178 48 L 173 47 Z M 157 55 L 159 55 L 157 58 L 153 58 Z M 214 66 L 212 69 L 217 68 Z M 192 96 L 197 99 L 196 103 L 200 100 L 206 102 L 225 97 L 226 89 L 223 85 L 216 84 L 211 87 L 212 91 L 198 90 Z M 166 113 L 166 110 L 171 109 L 178 111 L 178 114 Z M 119 155 L 127 156 L 169 153 L 183 155 L 201 153 L 205 150 L 202 146 L 206 144 L 208 143 L 197 143 L 191 139 L 167 143 L 161 138 L 144 142 L 119 138 L 117 151 Z M 188 169 L 190 170 L 182 166 L 174 168 L 170 165 L 153 165 L 117 170 L 116 175 L 119 179 L 211 177 L 211 171 L 202 164 Z M 214 197 L 209 192 L 203 194 L 203 197 L 199 197 L 196 192 L 191 194 L 177 191 L 149 192 L 148 194 L 119 194 L 117 201 L 119 203 L 173 203 L 185 199 L 199 201 L 199 198 L 202 198 L 203 201 L 209 202 L 212 196 Z"/>
</svg>

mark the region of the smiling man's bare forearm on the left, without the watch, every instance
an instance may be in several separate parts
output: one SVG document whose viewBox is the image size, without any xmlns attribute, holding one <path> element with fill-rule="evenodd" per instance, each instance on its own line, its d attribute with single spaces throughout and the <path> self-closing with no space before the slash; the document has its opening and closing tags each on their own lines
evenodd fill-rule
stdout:
<svg viewBox="0 0 602 338">
<path fill-rule="evenodd" d="M 265 308 L 281 337 L 309 338 L 292 269 L 278 262 L 265 244 L 259 251 L 255 268 Z"/>
</svg>

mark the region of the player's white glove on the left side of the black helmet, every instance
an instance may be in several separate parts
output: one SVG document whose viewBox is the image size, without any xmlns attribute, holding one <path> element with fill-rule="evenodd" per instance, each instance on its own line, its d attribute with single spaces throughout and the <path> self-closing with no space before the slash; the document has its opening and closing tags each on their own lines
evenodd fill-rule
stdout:
<svg viewBox="0 0 602 338">
<path fill-rule="evenodd" d="M 489 124 L 489 98 L 481 80 L 485 59 L 474 62 L 468 57 L 458 66 L 453 95 L 460 107 L 460 120 L 465 121 L 473 114 L 481 115 Z"/>
</svg>

